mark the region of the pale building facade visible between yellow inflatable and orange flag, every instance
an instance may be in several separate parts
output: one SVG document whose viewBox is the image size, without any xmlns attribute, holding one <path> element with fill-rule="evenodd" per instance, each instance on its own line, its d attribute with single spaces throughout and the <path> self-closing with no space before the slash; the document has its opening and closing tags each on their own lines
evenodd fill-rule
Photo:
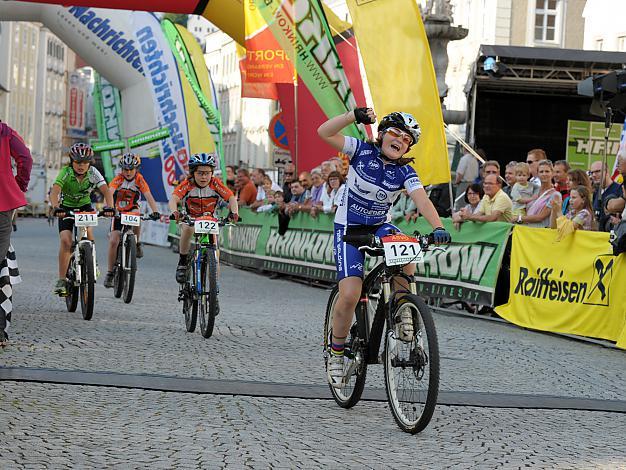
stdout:
<svg viewBox="0 0 626 470">
<path fill-rule="evenodd" d="M 268 125 L 276 112 L 276 102 L 241 97 L 237 46 L 225 33 L 210 33 L 205 38 L 205 51 L 219 99 L 226 164 L 271 168 Z"/>
</svg>

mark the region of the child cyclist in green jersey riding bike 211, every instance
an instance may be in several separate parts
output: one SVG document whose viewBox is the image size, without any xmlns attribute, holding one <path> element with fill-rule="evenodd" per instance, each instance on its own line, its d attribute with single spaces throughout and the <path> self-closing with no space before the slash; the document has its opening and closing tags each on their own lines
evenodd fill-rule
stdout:
<svg viewBox="0 0 626 470">
<path fill-rule="evenodd" d="M 93 160 L 92 148 L 83 143 L 74 144 L 70 148 L 70 164 L 61 168 L 59 175 L 50 191 L 50 203 L 54 208 L 54 215 L 59 217 L 59 279 L 54 286 L 54 293 L 61 297 L 67 295 L 65 275 L 72 251 L 72 231 L 74 219 L 68 217 L 69 211 L 93 211 L 91 193 L 98 188 L 105 200 L 104 215 L 115 215 L 113 197 L 102 174 L 91 165 Z M 66 218 L 67 217 L 67 218 Z M 87 236 L 93 240 L 91 228 L 87 229 Z"/>
</svg>

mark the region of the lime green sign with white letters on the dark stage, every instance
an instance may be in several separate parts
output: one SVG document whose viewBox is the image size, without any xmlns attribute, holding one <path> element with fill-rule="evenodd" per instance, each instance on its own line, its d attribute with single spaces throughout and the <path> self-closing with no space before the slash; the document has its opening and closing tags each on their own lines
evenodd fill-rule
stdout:
<svg viewBox="0 0 626 470">
<path fill-rule="evenodd" d="M 622 124 L 613 124 L 609 131 L 607 164 L 609 171 L 615 164 L 619 150 Z M 587 171 L 595 161 L 604 158 L 604 123 L 591 121 L 567 121 L 567 156 L 572 168 Z"/>
</svg>

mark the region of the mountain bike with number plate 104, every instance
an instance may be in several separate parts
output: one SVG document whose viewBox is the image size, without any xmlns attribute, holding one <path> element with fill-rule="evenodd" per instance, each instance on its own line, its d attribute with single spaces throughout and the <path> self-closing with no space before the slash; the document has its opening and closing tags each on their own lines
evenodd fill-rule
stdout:
<svg viewBox="0 0 626 470">
<path fill-rule="evenodd" d="M 137 272 L 137 236 L 133 227 L 139 227 L 142 220 L 149 220 L 150 217 L 142 217 L 138 212 L 122 212 L 115 217 L 120 219 L 122 234 L 113 267 L 113 295 L 119 299 L 124 294 L 123 300 L 129 304 Z"/>
</svg>

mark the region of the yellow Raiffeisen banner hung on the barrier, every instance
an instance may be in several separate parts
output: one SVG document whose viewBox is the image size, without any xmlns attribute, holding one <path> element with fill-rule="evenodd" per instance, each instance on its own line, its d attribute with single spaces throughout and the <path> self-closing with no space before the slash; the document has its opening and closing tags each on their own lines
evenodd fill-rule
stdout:
<svg viewBox="0 0 626 470">
<path fill-rule="evenodd" d="M 626 349 L 626 255 L 608 233 L 515 227 L 509 303 L 496 312 L 516 325 L 616 341 Z"/>
</svg>

